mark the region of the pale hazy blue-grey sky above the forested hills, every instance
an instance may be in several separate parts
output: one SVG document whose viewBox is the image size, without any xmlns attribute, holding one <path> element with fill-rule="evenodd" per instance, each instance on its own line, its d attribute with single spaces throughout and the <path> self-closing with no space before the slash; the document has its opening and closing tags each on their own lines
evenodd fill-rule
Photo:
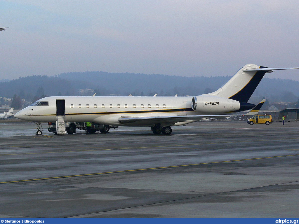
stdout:
<svg viewBox="0 0 299 224">
<path fill-rule="evenodd" d="M 0 79 L 107 71 L 233 75 L 299 67 L 298 1 L 1 0 Z M 266 77 L 299 81 L 299 71 Z"/>
</svg>

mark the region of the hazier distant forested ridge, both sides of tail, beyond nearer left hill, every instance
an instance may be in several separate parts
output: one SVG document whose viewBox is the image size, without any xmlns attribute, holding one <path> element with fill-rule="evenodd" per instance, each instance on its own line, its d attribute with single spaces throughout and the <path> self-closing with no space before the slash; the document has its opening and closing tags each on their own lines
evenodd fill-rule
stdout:
<svg viewBox="0 0 299 224">
<path fill-rule="evenodd" d="M 231 76 L 169 76 L 159 74 L 108 73 L 108 72 L 73 72 L 62 73 L 58 77 L 78 80 L 83 88 L 96 89 L 98 96 L 116 94 L 127 96 L 196 96 L 210 93 L 220 88 Z M 252 98 L 266 97 L 272 102 L 296 102 L 299 98 L 299 82 L 289 79 L 263 78 Z"/>
</svg>

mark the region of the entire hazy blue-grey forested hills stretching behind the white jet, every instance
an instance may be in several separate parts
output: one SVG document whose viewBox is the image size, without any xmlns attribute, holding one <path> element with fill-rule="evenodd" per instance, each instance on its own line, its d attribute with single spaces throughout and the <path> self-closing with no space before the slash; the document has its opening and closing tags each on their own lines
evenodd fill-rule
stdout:
<svg viewBox="0 0 299 224">
<path fill-rule="evenodd" d="M 14 94 L 30 100 L 39 93 L 47 96 L 77 96 L 78 89 L 94 89 L 97 96 L 178 96 L 201 95 L 217 90 L 230 76 L 184 77 L 159 74 L 74 72 L 57 76 L 27 76 L 0 82 L 0 96 Z M 42 91 L 41 91 L 42 88 Z M 262 79 L 252 99 L 266 97 L 269 101 L 296 102 L 299 82 L 286 79 Z"/>
</svg>

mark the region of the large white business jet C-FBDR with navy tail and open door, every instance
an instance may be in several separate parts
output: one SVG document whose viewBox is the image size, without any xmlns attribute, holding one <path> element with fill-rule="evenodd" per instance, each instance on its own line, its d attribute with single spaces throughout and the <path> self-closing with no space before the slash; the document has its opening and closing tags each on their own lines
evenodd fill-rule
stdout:
<svg viewBox="0 0 299 224">
<path fill-rule="evenodd" d="M 58 122 L 63 118 L 65 122 L 148 126 L 154 134 L 162 132 L 169 135 L 171 126 L 204 118 L 236 116 L 231 113 L 254 108 L 254 104 L 247 102 L 265 73 L 298 68 L 267 68 L 247 64 L 221 88 L 200 96 L 49 96 L 14 116 L 33 122 Z M 39 131 L 37 134 L 42 133 Z"/>
</svg>

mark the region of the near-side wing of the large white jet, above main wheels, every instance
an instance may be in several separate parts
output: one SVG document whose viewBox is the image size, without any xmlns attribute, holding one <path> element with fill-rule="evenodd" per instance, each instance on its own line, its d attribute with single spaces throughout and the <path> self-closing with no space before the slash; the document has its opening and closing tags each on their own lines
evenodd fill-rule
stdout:
<svg viewBox="0 0 299 224">
<path fill-rule="evenodd" d="M 181 115 L 181 116 L 153 116 L 153 117 L 120 117 L 118 121 L 122 124 L 132 125 L 133 123 L 137 124 L 147 124 L 155 125 L 158 123 L 173 125 L 177 122 L 185 121 L 199 121 L 204 118 L 227 118 L 230 116 L 245 116 L 244 114 L 220 114 L 220 115 Z"/>
</svg>

